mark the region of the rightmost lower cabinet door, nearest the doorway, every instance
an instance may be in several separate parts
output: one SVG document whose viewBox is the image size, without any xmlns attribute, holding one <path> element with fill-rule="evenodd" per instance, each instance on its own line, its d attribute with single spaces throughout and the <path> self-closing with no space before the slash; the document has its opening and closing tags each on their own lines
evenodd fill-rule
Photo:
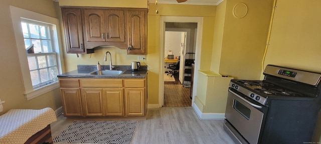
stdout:
<svg viewBox="0 0 321 144">
<path fill-rule="evenodd" d="M 126 88 L 126 115 L 145 115 L 145 88 Z"/>
</svg>

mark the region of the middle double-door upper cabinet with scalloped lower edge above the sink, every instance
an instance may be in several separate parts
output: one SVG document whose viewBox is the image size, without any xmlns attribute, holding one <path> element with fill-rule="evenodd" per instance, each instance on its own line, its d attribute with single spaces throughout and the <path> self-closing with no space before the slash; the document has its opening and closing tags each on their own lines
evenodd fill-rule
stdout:
<svg viewBox="0 0 321 144">
<path fill-rule="evenodd" d="M 122 9 L 84 9 L 86 46 L 114 45 L 126 49 Z"/>
</svg>

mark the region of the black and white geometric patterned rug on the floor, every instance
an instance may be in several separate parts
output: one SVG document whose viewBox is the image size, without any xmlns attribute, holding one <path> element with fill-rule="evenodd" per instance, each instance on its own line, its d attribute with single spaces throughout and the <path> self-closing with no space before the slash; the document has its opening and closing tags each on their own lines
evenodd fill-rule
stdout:
<svg viewBox="0 0 321 144">
<path fill-rule="evenodd" d="M 131 143 L 138 121 L 75 120 L 54 143 Z"/>
</svg>

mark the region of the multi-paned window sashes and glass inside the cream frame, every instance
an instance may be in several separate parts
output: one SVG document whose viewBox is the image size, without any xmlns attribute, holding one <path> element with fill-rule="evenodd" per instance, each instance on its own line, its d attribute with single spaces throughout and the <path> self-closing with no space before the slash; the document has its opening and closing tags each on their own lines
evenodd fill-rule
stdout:
<svg viewBox="0 0 321 144">
<path fill-rule="evenodd" d="M 34 89 L 57 82 L 57 60 L 51 24 L 22 18 L 22 31 Z"/>
</svg>

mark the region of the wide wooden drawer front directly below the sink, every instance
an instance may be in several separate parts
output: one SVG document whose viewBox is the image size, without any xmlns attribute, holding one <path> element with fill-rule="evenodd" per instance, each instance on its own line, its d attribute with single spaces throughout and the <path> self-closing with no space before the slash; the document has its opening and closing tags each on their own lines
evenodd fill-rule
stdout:
<svg viewBox="0 0 321 144">
<path fill-rule="evenodd" d="M 81 79 L 82 87 L 122 87 L 122 79 Z"/>
</svg>

